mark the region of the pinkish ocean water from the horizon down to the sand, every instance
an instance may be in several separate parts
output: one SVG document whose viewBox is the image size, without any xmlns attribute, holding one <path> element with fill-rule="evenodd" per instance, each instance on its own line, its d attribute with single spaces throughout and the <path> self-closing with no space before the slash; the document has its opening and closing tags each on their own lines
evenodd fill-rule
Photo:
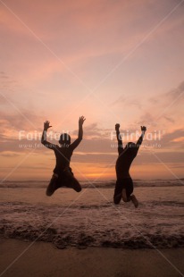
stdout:
<svg viewBox="0 0 184 277">
<path fill-rule="evenodd" d="M 3 238 L 52 242 L 56 248 L 184 247 L 184 180 L 135 180 L 132 203 L 113 204 L 114 180 L 81 182 L 82 191 L 46 181 L 0 184 Z"/>
</svg>

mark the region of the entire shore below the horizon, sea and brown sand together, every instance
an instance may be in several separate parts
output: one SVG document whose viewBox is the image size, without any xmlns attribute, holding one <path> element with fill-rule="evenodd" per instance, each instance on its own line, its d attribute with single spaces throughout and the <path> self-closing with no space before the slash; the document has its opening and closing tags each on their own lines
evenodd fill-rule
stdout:
<svg viewBox="0 0 184 277">
<path fill-rule="evenodd" d="M 0 276 L 183 276 L 184 188 L 141 183 L 137 209 L 113 204 L 112 183 L 52 197 L 44 182 L 1 185 Z"/>
</svg>

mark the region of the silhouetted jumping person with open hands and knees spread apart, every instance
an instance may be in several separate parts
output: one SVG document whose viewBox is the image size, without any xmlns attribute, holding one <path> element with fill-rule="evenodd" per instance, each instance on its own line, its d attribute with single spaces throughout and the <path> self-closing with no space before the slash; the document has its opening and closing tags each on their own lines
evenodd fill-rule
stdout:
<svg viewBox="0 0 184 277">
<path fill-rule="evenodd" d="M 77 192 L 81 190 L 79 181 L 74 178 L 73 172 L 71 172 L 70 162 L 73 150 L 79 146 L 79 143 L 82 140 L 82 125 L 85 120 L 86 119 L 84 116 L 79 117 L 79 135 L 78 139 L 76 139 L 73 143 L 71 143 L 71 137 L 68 134 L 61 134 L 59 139 L 60 147 L 46 141 L 46 131 L 52 126 L 49 126 L 50 122 L 46 121 L 44 123 L 41 143 L 45 147 L 54 150 L 56 159 L 56 164 L 53 171 L 54 174 L 46 189 L 46 195 L 48 197 L 54 194 L 55 189 L 59 189 L 63 186 L 75 189 Z"/>
</svg>

